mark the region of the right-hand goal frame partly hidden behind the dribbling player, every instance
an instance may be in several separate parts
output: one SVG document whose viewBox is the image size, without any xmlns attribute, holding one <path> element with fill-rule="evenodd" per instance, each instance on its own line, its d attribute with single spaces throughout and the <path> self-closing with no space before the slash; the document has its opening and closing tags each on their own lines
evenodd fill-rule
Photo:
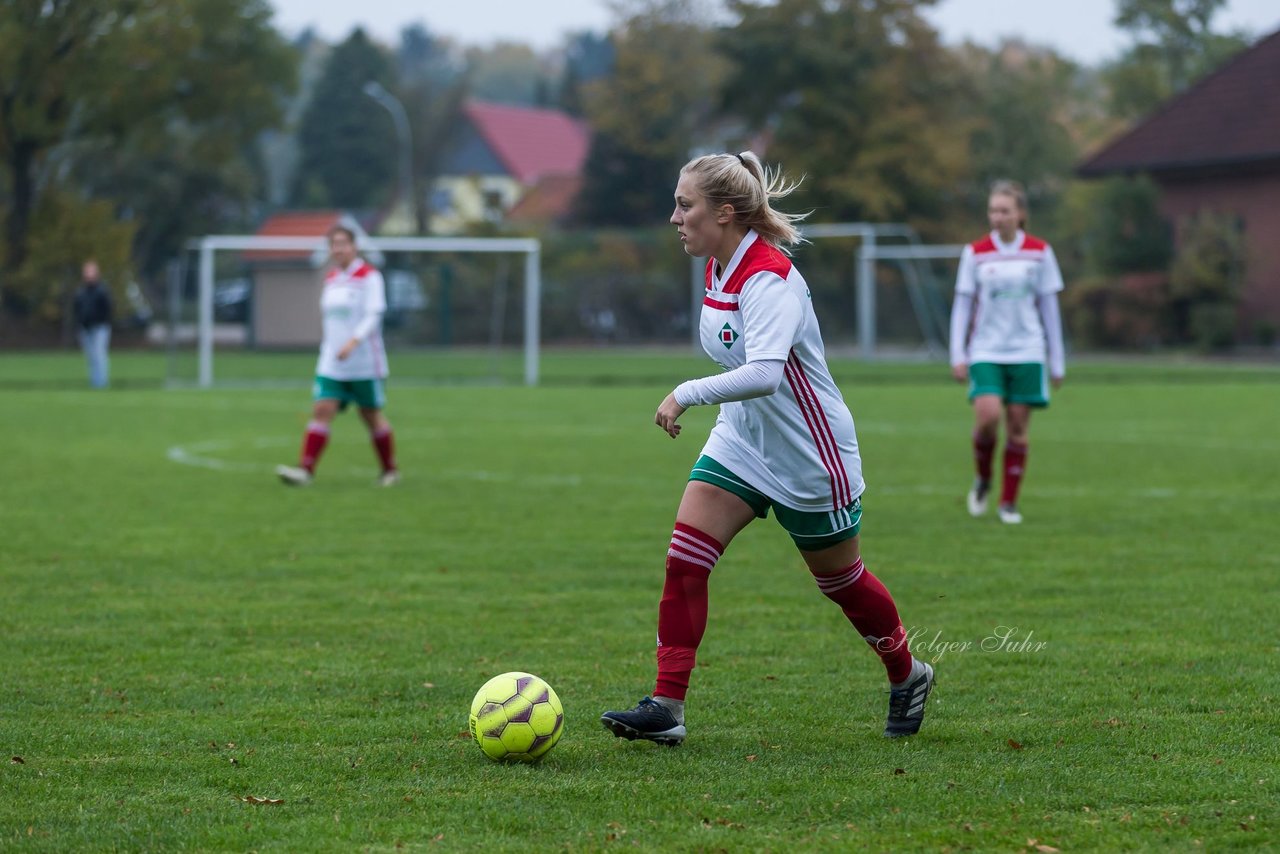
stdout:
<svg viewBox="0 0 1280 854">
<path fill-rule="evenodd" d="M 916 323 L 931 351 L 941 351 L 947 346 L 947 325 L 933 318 L 923 294 L 922 273 L 910 261 L 934 259 L 959 259 L 964 246 L 925 245 L 914 228 L 905 223 L 814 223 L 800 229 L 806 241 L 856 237 L 859 239 L 855 255 L 855 300 L 858 306 L 858 352 L 863 359 L 876 359 L 876 265 L 879 261 L 901 264 L 902 278 L 911 298 Z M 895 241 L 886 243 L 883 241 Z M 705 289 L 705 259 L 692 259 L 691 296 L 692 316 L 701 311 Z M 700 350 L 698 324 L 692 324 L 694 350 Z"/>
</svg>

